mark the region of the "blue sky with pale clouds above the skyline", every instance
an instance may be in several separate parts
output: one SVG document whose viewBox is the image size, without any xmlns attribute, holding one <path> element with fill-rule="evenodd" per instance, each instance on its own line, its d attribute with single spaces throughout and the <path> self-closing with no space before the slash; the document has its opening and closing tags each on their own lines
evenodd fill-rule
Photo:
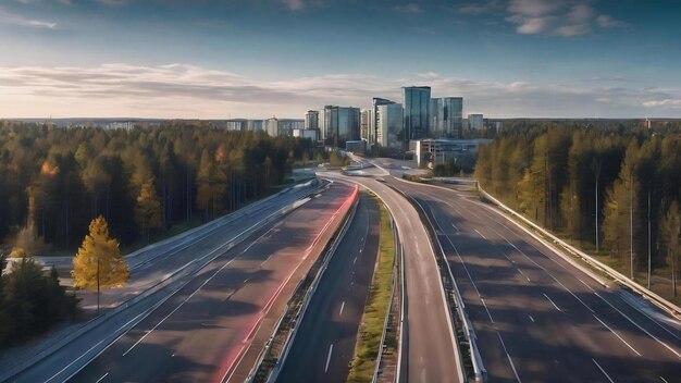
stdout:
<svg viewBox="0 0 681 383">
<path fill-rule="evenodd" d="M 0 0 L 0 119 L 681 118 L 678 0 Z"/>
</svg>

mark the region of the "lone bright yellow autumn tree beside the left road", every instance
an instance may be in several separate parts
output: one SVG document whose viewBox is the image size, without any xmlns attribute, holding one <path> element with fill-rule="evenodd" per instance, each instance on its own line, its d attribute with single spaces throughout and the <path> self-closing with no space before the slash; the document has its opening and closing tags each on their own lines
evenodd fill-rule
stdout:
<svg viewBox="0 0 681 383">
<path fill-rule="evenodd" d="M 109 237 L 109 224 L 99 215 L 90 222 L 90 233 L 85 236 L 78 254 L 73 259 L 71 272 L 76 288 L 97 291 L 123 286 L 129 279 L 127 263 L 121 256 L 119 242 Z"/>
</svg>

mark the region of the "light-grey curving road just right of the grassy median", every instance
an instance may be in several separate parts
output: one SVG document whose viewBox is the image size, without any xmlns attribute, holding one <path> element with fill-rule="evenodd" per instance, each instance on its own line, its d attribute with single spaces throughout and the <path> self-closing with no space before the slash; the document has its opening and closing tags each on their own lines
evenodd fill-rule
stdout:
<svg viewBox="0 0 681 383">
<path fill-rule="evenodd" d="M 322 174 L 355 182 L 372 190 L 385 202 L 395 220 L 405 247 L 406 274 L 399 380 L 417 383 L 461 381 L 460 355 L 439 271 L 416 209 L 397 192 L 371 177 Z"/>
</svg>

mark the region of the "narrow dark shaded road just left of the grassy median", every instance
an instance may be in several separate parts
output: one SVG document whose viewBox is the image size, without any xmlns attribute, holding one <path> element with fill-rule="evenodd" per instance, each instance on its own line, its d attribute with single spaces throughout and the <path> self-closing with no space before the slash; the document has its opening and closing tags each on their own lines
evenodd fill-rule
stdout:
<svg viewBox="0 0 681 383">
<path fill-rule="evenodd" d="M 277 382 L 345 382 L 379 252 L 381 214 L 362 196 L 300 323 Z"/>
</svg>

